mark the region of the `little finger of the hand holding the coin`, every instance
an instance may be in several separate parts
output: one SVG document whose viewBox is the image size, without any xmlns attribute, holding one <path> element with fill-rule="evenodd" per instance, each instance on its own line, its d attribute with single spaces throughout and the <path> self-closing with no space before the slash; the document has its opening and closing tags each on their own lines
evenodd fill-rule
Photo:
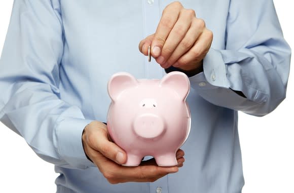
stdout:
<svg viewBox="0 0 294 193">
<path fill-rule="evenodd" d="M 206 29 L 198 38 L 195 45 L 183 56 L 181 56 L 176 63 L 173 64 L 174 67 L 185 66 L 192 62 L 201 61 L 207 54 L 212 42 L 212 32 Z"/>
</svg>

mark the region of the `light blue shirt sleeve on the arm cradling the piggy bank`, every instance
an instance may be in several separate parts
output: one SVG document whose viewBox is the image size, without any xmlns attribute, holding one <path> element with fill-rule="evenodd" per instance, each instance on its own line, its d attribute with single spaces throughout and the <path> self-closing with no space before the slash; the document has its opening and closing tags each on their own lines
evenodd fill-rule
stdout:
<svg viewBox="0 0 294 193">
<path fill-rule="evenodd" d="M 63 27 L 58 0 L 15 0 L 0 60 L 0 120 L 58 166 L 94 167 L 82 132 L 92 120 L 60 99 Z"/>
</svg>

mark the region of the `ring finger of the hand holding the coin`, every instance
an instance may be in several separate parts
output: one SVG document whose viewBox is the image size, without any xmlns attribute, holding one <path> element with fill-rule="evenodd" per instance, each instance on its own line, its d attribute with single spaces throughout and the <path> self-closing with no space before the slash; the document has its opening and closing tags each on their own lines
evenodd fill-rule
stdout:
<svg viewBox="0 0 294 193">
<path fill-rule="evenodd" d="M 202 34 L 205 28 L 205 23 L 202 19 L 193 20 L 189 30 L 187 31 L 185 37 L 176 47 L 174 52 L 168 58 L 165 64 L 163 64 L 164 68 L 168 68 L 173 65 L 182 55 L 187 53 L 195 44 L 197 39 Z"/>
</svg>

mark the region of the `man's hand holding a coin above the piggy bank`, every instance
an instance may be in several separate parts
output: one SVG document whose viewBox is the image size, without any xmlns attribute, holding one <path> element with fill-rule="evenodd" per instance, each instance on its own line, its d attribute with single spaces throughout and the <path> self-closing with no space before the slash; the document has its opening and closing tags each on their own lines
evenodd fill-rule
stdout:
<svg viewBox="0 0 294 193">
<path fill-rule="evenodd" d="M 202 60 L 210 49 L 212 32 L 194 10 L 185 9 L 179 2 L 169 4 L 162 13 L 155 34 L 142 40 L 139 50 L 152 56 L 163 68 L 171 65 L 183 70 L 202 67 Z"/>
</svg>

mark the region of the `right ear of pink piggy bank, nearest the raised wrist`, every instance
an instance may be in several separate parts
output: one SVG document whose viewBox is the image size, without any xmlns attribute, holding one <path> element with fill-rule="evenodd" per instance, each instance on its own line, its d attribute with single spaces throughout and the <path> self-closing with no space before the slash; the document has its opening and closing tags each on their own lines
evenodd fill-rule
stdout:
<svg viewBox="0 0 294 193">
<path fill-rule="evenodd" d="M 166 74 L 160 84 L 161 87 L 169 87 L 179 95 L 183 100 L 186 99 L 190 91 L 190 81 L 185 73 L 173 71 Z"/>
</svg>

